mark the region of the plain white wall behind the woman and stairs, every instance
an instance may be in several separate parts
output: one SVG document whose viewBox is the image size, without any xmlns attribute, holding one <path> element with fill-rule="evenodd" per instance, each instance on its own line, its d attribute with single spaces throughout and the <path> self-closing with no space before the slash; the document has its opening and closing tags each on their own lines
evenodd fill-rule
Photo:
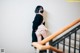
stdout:
<svg viewBox="0 0 80 53">
<path fill-rule="evenodd" d="M 46 25 L 53 33 L 80 18 L 80 3 L 66 0 L 0 0 L 0 48 L 6 53 L 34 53 L 32 21 L 37 5 L 45 9 Z"/>
</svg>

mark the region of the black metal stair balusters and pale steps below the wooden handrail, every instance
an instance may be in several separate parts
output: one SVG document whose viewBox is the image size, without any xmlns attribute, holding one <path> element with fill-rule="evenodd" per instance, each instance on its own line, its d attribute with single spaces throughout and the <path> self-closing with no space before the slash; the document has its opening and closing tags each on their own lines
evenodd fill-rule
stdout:
<svg viewBox="0 0 80 53">
<path fill-rule="evenodd" d="M 57 40 L 51 41 L 50 45 L 60 49 L 64 53 L 80 53 L 80 25 Z M 49 51 L 49 53 L 53 52 Z"/>
</svg>

